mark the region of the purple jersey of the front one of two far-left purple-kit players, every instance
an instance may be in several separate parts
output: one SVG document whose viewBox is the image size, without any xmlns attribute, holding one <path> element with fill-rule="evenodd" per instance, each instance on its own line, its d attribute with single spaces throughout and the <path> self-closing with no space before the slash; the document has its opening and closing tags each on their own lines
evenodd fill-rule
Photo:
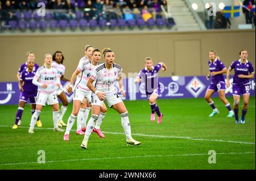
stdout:
<svg viewBox="0 0 256 181">
<path fill-rule="evenodd" d="M 31 72 L 29 72 L 28 69 L 25 69 L 20 74 L 20 80 L 24 82 L 23 92 L 26 94 L 36 94 L 38 92 L 38 86 L 35 86 L 32 83 L 36 70 L 35 67 Z"/>
</svg>

